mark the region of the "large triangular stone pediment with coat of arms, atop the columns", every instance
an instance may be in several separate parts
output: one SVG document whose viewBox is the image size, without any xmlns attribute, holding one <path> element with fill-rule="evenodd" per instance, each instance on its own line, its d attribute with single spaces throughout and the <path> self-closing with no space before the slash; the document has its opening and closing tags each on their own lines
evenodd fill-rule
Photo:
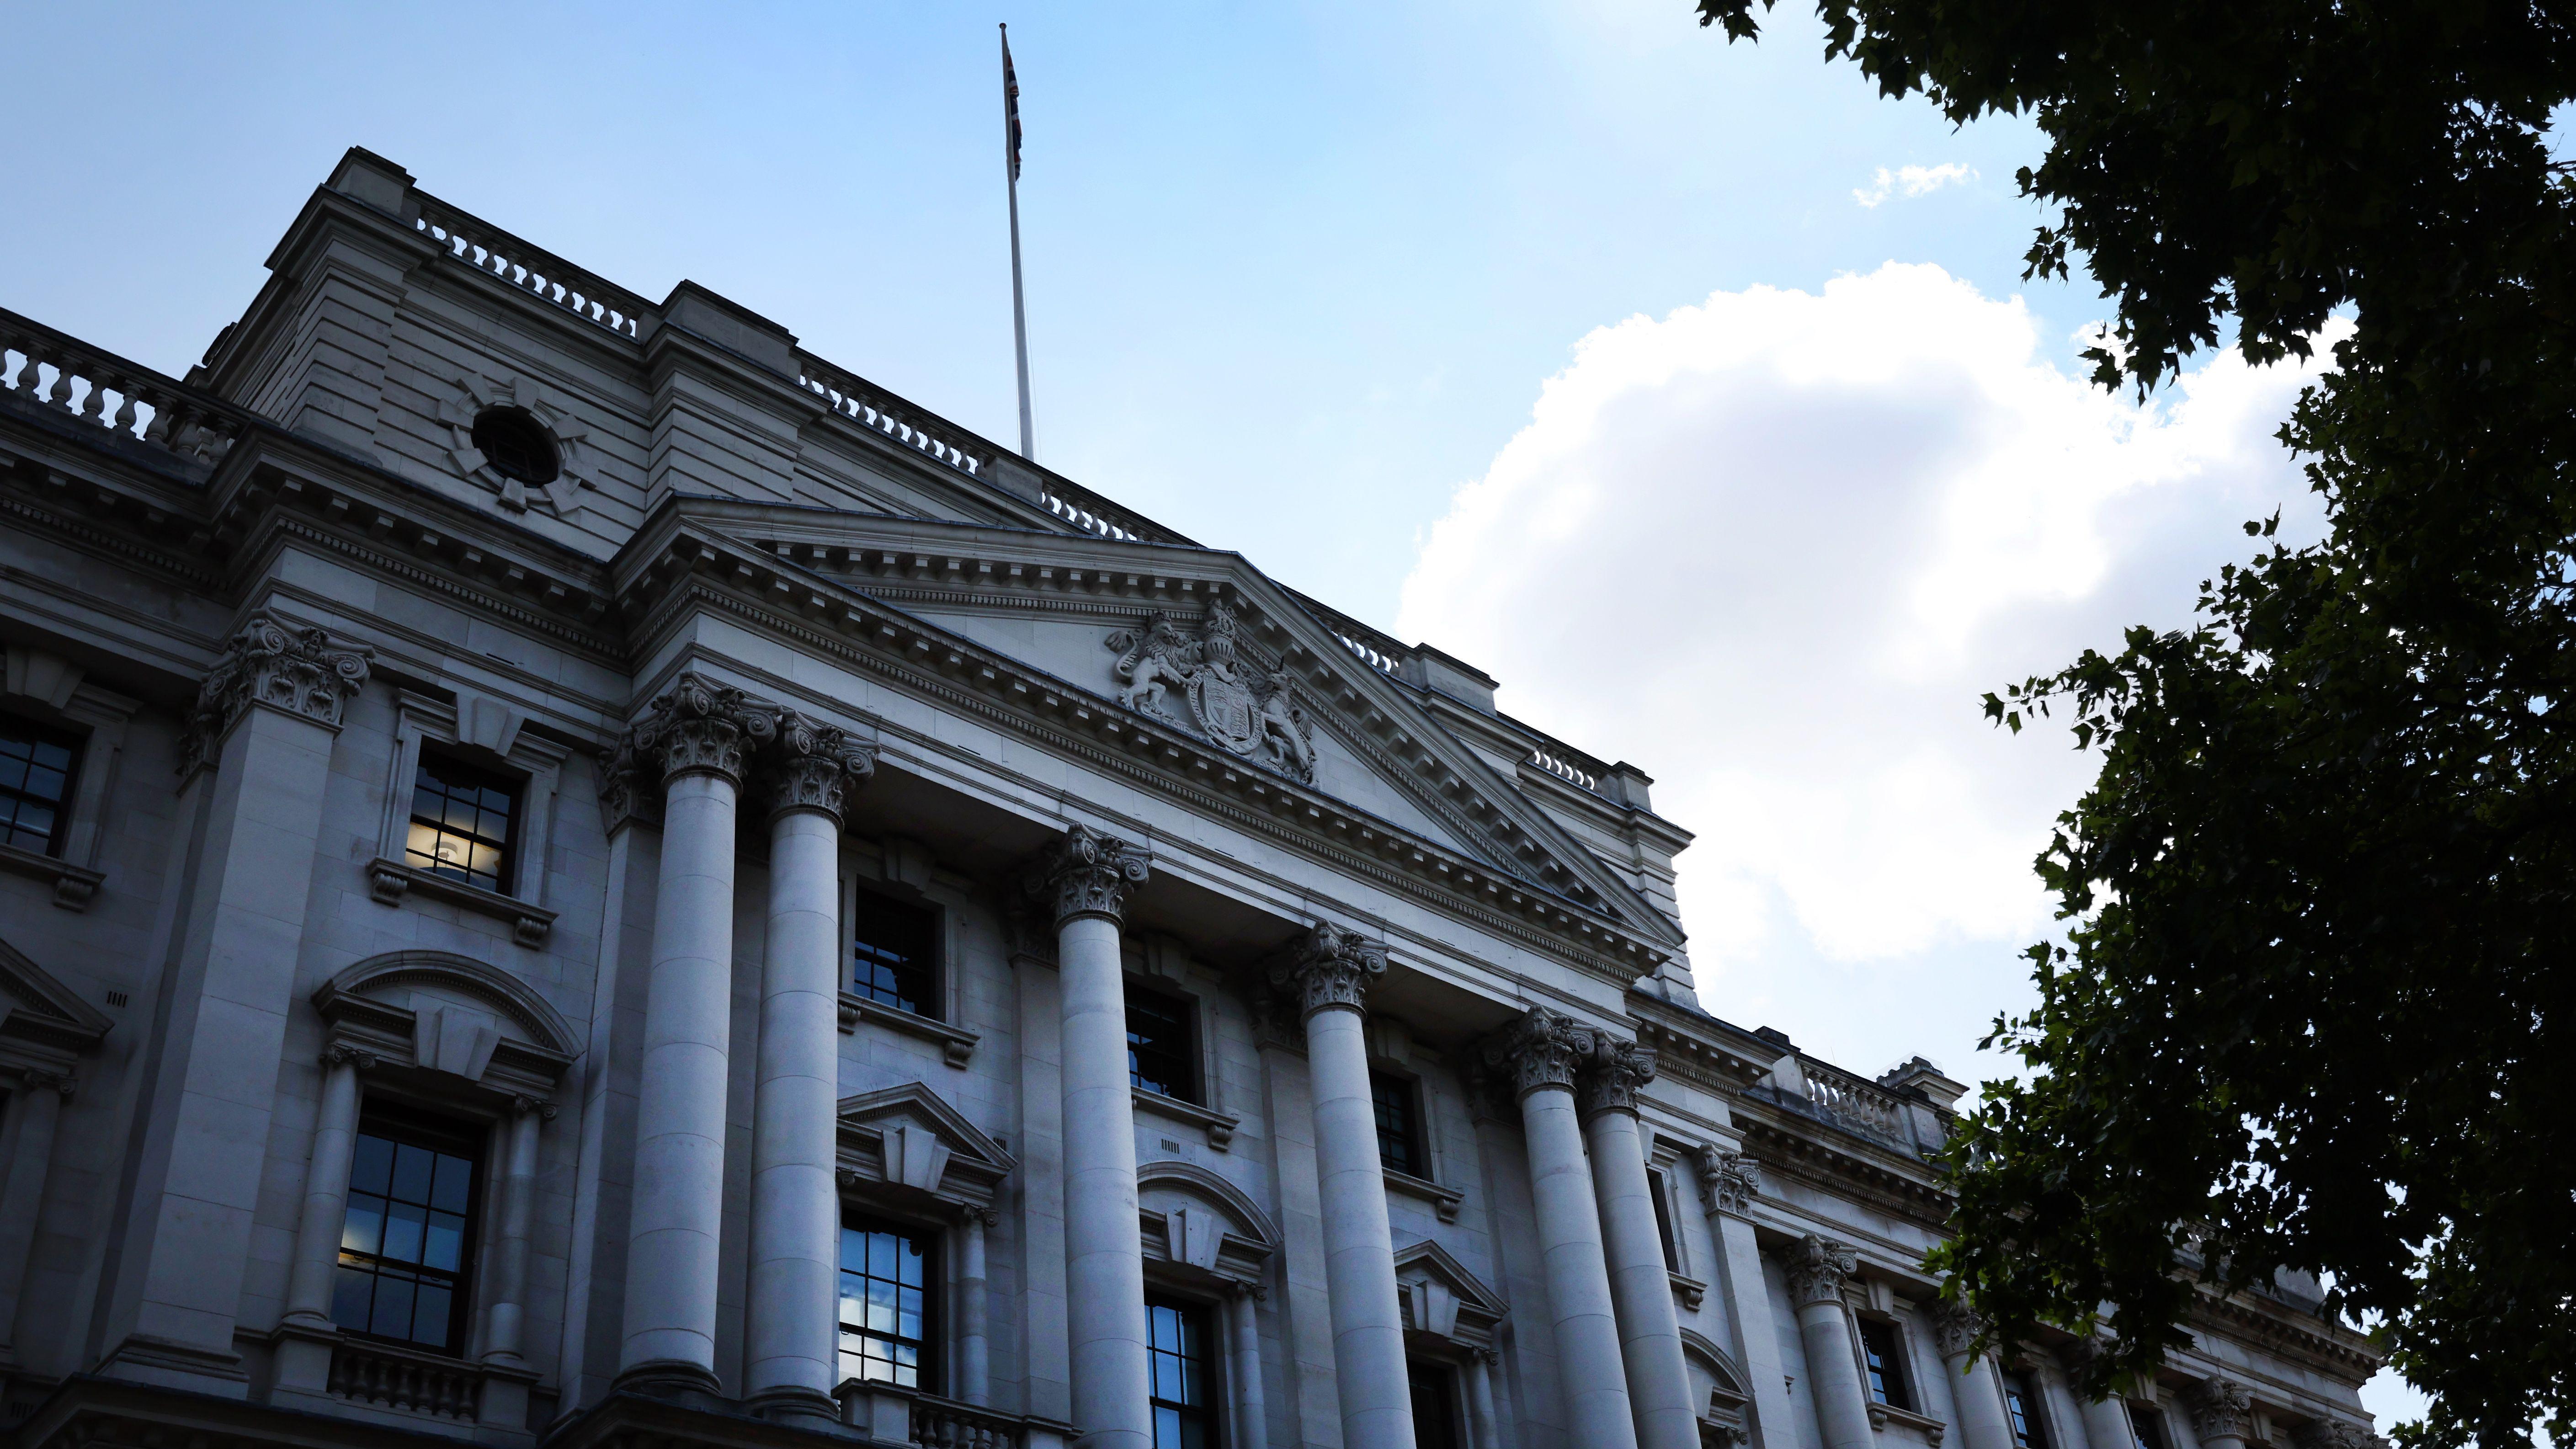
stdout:
<svg viewBox="0 0 2576 1449">
<path fill-rule="evenodd" d="M 675 534 L 708 529 L 732 554 L 696 554 L 688 567 L 809 616 L 835 616 L 827 590 L 866 596 L 925 634 L 1059 683 L 1095 727 L 1136 719 L 1198 743 L 1229 776 L 1280 779 L 1345 804 L 1334 846 L 1378 859 L 1427 846 L 1481 864 L 1492 877 L 1458 884 L 1525 895 L 1522 910 L 1540 915 L 1597 915 L 1641 944 L 1602 938 L 1607 951 L 1643 951 L 1638 972 L 1680 949 L 1677 926 L 1455 737 L 1422 688 L 1242 554 L 719 500 L 680 511 Z"/>
</svg>

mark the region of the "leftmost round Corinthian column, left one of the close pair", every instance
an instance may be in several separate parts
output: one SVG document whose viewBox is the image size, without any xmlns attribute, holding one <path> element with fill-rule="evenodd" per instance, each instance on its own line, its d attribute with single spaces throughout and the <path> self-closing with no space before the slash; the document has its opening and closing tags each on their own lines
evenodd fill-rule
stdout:
<svg viewBox="0 0 2576 1449">
<path fill-rule="evenodd" d="M 680 676 L 634 732 L 662 766 L 662 877 L 644 975 L 626 1336 L 618 1382 L 721 1392 L 716 1245 L 724 1238 L 724 1088 L 734 1021 L 734 802 L 744 748 L 775 717 L 739 688 Z"/>
</svg>

